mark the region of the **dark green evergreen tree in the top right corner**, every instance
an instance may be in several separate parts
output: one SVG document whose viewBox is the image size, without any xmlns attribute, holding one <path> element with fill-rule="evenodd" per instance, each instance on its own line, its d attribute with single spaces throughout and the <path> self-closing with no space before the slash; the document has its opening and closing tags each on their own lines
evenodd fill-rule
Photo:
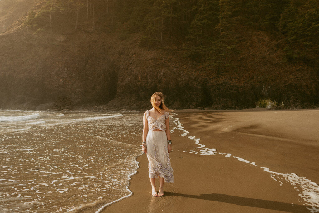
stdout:
<svg viewBox="0 0 319 213">
<path fill-rule="evenodd" d="M 283 12 L 281 29 L 288 43 L 289 60 L 301 60 L 311 66 L 319 64 L 318 1 L 292 1 Z"/>
</svg>

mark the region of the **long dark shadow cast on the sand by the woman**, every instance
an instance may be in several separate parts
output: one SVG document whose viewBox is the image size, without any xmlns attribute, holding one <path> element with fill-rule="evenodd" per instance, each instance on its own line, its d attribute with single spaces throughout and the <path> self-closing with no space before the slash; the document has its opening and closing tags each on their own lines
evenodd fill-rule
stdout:
<svg viewBox="0 0 319 213">
<path fill-rule="evenodd" d="M 272 209 L 278 211 L 286 211 L 286 212 L 309 212 L 309 209 L 312 206 L 304 206 L 304 205 L 297 205 L 291 203 L 283 203 L 277 201 L 267 201 L 267 200 L 260 200 L 254 198 L 246 198 L 246 197 L 237 197 L 232 195 L 224 195 L 224 194 L 203 194 L 203 195 L 187 195 L 187 194 L 180 194 L 180 193 L 173 193 L 173 192 L 165 192 L 165 196 L 181 196 L 181 197 L 189 197 L 189 198 L 196 198 L 196 199 L 203 199 L 209 201 L 217 201 L 217 202 L 224 202 L 224 203 L 231 203 L 240 206 L 250 206 L 250 207 L 257 207 L 263 209 Z M 309 209 L 307 209 L 307 207 Z"/>
</svg>

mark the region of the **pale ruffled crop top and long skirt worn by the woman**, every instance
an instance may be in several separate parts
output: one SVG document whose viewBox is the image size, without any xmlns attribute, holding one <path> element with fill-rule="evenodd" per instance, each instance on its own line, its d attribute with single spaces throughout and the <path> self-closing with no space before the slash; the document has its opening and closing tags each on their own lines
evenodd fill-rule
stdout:
<svg viewBox="0 0 319 213">
<path fill-rule="evenodd" d="M 149 110 L 147 110 L 148 133 L 146 136 L 146 155 L 148 158 L 149 177 L 163 177 L 166 183 L 173 183 L 173 169 L 167 151 L 167 136 L 165 132 L 165 120 L 169 117 L 169 113 L 165 112 L 158 119 L 152 118 L 149 116 L 149 113 Z M 154 129 L 161 131 L 153 131 Z"/>
</svg>

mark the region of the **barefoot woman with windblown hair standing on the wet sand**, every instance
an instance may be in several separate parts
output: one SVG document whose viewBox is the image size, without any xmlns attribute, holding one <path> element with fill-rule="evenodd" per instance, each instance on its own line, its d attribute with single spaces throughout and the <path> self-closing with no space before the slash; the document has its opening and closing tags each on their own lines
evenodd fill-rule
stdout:
<svg viewBox="0 0 319 213">
<path fill-rule="evenodd" d="M 146 110 L 143 117 L 143 152 L 148 158 L 149 177 L 152 185 L 152 195 L 164 195 L 164 182 L 173 183 L 173 169 L 169 160 L 172 151 L 171 134 L 169 131 L 169 112 L 164 104 L 161 92 L 155 92 L 151 97 L 153 108 Z M 159 192 L 155 188 L 155 178 L 159 177 Z"/>
</svg>

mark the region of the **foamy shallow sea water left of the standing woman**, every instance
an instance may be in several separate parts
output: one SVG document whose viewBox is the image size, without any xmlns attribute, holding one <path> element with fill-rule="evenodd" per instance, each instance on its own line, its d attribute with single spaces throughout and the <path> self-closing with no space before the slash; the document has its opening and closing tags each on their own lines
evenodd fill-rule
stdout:
<svg viewBox="0 0 319 213">
<path fill-rule="evenodd" d="M 92 212 L 130 195 L 142 116 L 1 110 L 0 212 Z"/>
</svg>

